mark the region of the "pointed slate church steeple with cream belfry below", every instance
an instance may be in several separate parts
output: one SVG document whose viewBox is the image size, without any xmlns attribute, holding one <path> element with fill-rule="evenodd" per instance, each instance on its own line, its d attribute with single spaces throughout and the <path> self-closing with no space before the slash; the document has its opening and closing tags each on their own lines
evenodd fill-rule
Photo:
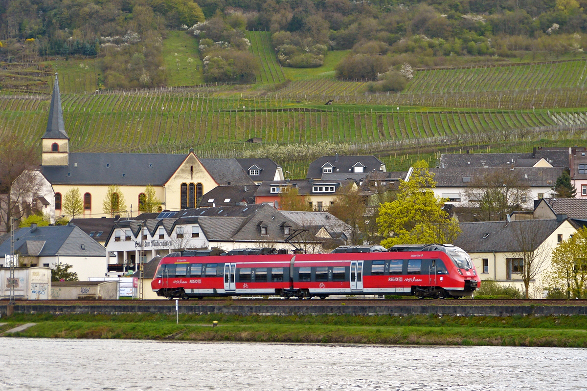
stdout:
<svg viewBox="0 0 587 391">
<path fill-rule="evenodd" d="M 69 136 L 65 132 L 65 123 L 63 123 L 59 81 L 56 73 L 53 95 L 49 104 L 47 130 L 41 139 L 43 141 L 44 166 L 66 166 L 69 164 Z"/>
</svg>

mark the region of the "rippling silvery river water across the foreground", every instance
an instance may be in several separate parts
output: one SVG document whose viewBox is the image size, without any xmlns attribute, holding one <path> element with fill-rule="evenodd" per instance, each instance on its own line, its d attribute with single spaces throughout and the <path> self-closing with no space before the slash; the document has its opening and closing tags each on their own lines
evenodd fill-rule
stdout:
<svg viewBox="0 0 587 391">
<path fill-rule="evenodd" d="M 587 349 L 0 338 L 0 390 L 587 390 Z"/>
</svg>

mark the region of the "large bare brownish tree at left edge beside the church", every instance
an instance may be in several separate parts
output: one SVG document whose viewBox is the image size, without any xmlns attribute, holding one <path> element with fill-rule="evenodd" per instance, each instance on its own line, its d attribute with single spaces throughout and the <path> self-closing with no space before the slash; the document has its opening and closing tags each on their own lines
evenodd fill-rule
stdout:
<svg viewBox="0 0 587 391">
<path fill-rule="evenodd" d="M 34 170 L 35 148 L 25 144 L 18 134 L 3 135 L 0 143 L 0 219 L 9 232 L 12 217 L 21 219 L 24 203 L 36 197 L 40 181 Z"/>
</svg>

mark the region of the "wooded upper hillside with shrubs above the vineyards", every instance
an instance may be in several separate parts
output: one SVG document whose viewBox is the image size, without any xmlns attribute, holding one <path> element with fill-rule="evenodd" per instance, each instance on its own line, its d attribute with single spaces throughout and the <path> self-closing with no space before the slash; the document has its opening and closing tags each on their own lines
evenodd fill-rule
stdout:
<svg viewBox="0 0 587 391">
<path fill-rule="evenodd" d="M 386 72 L 406 62 L 580 56 L 586 6 L 587 0 L 0 0 L 0 61 L 97 56 L 101 85 L 164 86 L 163 38 L 191 28 L 186 33 L 198 41 L 194 57 L 204 60 L 206 81 L 251 83 L 259 70 L 247 30 L 260 30 L 271 33 L 281 66 L 319 67 L 328 52 L 350 49 L 351 56 L 340 56 L 346 61 L 337 64 L 338 77 L 384 74 L 375 89 L 401 90 L 405 83 Z"/>
</svg>

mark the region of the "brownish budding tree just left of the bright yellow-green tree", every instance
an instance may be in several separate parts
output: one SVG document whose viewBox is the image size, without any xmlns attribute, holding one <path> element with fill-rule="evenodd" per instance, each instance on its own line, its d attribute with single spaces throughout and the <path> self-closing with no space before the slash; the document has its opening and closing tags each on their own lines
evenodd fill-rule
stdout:
<svg viewBox="0 0 587 391">
<path fill-rule="evenodd" d="M 328 212 L 338 217 L 351 227 L 351 244 L 362 244 L 362 230 L 365 226 L 365 197 L 360 194 L 356 186 L 348 185 L 342 194 L 334 199 L 334 205 L 330 205 Z"/>
</svg>

